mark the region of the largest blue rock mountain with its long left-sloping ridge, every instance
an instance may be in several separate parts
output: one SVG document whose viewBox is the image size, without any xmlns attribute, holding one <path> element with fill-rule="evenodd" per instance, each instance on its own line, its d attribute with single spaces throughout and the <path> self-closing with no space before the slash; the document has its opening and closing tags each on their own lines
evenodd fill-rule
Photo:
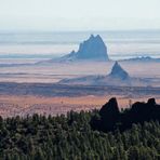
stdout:
<svg viewBox="0 0 160 160">
<path fill-rule="evenodd" d="M 107 54 L 107 46 L 105 45 L 103 39 L 99 35 L 93 36 L 82 43 L 80 43 L 78 51 L 72 51 L 69 54 L 53 58 L 40 63 L 53 63 L 53 62 L 74 62 L 74 61 L 109 61 Z M 38 64 L 40 64 L 38 63 Z"/>
</svg>

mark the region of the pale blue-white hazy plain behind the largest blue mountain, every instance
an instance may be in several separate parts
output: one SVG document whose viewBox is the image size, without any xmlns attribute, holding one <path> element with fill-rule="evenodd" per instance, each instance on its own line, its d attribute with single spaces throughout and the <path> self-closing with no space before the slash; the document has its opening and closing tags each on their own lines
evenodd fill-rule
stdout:
<svg viewBox="0 0 160 160">
<path fill-rule="evenodd" d="M 78 51 L 90 35 L 101 35 L 111 59 L 137 56 L 160 57 L 160 31 L 66 31 L 0 32 L 0 63 L 54 58 Z"/>
</svg>

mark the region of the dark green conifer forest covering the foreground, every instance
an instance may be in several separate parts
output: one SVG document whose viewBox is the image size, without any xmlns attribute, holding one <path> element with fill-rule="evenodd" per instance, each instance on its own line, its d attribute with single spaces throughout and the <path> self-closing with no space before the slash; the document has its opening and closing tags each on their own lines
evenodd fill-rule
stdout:
<svg viewBox="0 0 160 160">
<path fill-rule="evenodd" d="M 117 108 L 115 107 L 115 115 Z M 157 160 L 160 159 L 158 121 L 132 124 L 120 132 L 93 131 L 98 111 L 48 118 L 0 118 L 0 160 Z"/>
</svg>

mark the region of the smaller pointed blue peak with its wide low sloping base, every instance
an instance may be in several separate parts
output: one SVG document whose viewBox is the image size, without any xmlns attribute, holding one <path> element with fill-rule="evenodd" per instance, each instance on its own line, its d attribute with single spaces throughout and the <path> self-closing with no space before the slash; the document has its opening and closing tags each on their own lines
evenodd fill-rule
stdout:
<svg viewBox="0 0 160 160">
<path fill-rule="evenodd" d="M 75 79 L 64 79 L 63 84 L 82 84 L 82 85 L 117 85 L 117 86 L 146 86 L 149 81 L 146 79 L 132 78 L 116 62 L 109 75 L 106 76 L 85 76 Z"/>
</svg>

